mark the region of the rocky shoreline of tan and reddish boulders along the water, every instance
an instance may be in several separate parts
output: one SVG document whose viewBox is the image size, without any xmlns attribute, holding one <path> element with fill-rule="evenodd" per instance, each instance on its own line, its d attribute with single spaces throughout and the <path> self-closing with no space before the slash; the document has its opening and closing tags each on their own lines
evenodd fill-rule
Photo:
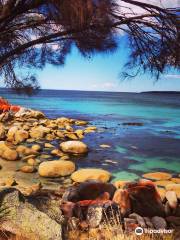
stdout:
<svg viewBox="0 0 180 240">
<path fill-rule="evenodd" d="M 13 112 L 12 109 L 16 111 Z M 27 216 L 30 214 L 29 217 L 35 214 L 36 218 L 42 220 L 41 224 L 47 221 L 52 224 L 52 228 L 56 229 L 54 233 L 52 229 L 46 233 L 42 230 L 43 233 L 39 239 L 43 240 L 51 239 L 51 234 L 58 234 L 58 238 L 53 235 L 53 239 L 61 239 L 63 231 L 60 229 L 64 228 L 64 225 L 69 228 L 69 224 L 74 224 L 75 230 L 79 232 L 98 229 L 104 221 L 103 212 L 105 211 L 107 215 L 109 207 L 114 209 L 113 214 L 118 215 L 119 221 L 121 220 L 120 225 L 125 232 L 133 232 L 139 225 L 148 228 L 149 224 L 150 227 L 150 223 L 147 224 L 142 220 L 144 217 L 148 217 L 151 223 L 153 217 L 159 217 L 153 220 L 155 221 L 154 225 L 151 225 L 153 229 L 157 229 L 160 223 L 164 224 L 161 227 L 164 226 L 167 229 L 172 222 L 179 224 L 179 177 L 174 178 L 169 173 L 159 172 L 144 174 L 142 176 L 144 180 L 138 180 L 136 183 L 120 178 L 115 183 L 109 183 L 110 172 L 103 169 L 77 169 L 76 162 L 71 160 L 72 156 L 77 157 L 88 153 L 88 146 L 83 143 L 83 139 L 86 134 L 97 131 L 96 126 L 91 126 L 84 120 L 63 117 L 48 119 L 42 112 L 31 109 L 21 107 L 18 111 L 17 108 L 12 109 L 0 115 L 0 165 L 2 167 L 0 202 L 2 206 L 5 204 L 4 199 L 6 204 L 10 204 L 11 199 L 15 201 L 11 207 L 13 214 L 15 211 L 14 217 L 18 225 L 16 227 L 21 228 L 21 232 L 24 230 L 22 222 L 17 221 L 17 217 L 22 216 L 19 206 L 23 207 L 25 211 L 23 214 Z M 59 141 L 59 148 L 54 147 L 54 140 Z M 105 151 L 109 146 L 104 144 L 101 147 Z M 44 150 L 47 150 L 48 154 Z M 57 159 L 49 161 L 54 156 Z M 55 180 L 54 183 L 51 182 L 52 179 Z M 138 194 L 134 192 L 134 188 Z M 89 195 L 84 196 L 87 189 Z M 95 195 L 94 189 L 96 189 Z M 144 191 L 148 198 L 146 194 L 144 195 Z M 139 199 L 140 208 L 135 207 L 132 196 Z M 25 203 L 22 202 L 22 197 Z M 47 200 L 45 203 L 42 201 L 43 198 Z M 38 205 L 37 199 L 41 206 Z M 148 204 L 151 213 L 147 213 L 148 201 L 151 201 L 151 204 Z M 154 209 L 159 209 L 158 216 L 156 216 L 157 213 L 152 214 Z M 96 220 L 99 219 L 96 226 L 94 216 Z M 108 220 L 111 217 L 108 216 Z M 37 221 L 36 218 L 34 221 Z M 72 220 L 76 223 L 72 223 Z M 142 221 L 145 221 L 144 225 Z M 7 222 L 5 220 L 4 222 L 4 228 L 7 228 Z M 15 222 L 11 224 L 14 225 Z M 29 225 L 28 227 L 30 228 Z M 32 228 L 35 234 L 37 231 L 40 234 L 35 226 Z M 49 234 L 49 237 L 45 238 L 44 234 Z"/>
</svg>

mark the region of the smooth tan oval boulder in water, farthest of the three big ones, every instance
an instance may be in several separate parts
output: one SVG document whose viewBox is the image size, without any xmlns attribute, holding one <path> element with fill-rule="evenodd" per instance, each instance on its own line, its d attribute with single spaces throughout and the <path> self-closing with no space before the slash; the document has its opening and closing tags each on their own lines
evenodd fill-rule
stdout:
<svg viewBox="0 0 180 240">
<path fill-rule="evenodd" d="M 83 154 L 88 152 L 88 147 L 81 141 L 67 141 L 60 144 L 63 152 Z"/>
</svg>

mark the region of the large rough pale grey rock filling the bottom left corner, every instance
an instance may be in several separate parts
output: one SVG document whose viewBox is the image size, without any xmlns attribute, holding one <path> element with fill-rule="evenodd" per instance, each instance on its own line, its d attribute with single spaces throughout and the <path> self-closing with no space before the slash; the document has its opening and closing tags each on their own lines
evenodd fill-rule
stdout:
<svg viewBox="0 0 180 240">
<path fill-rule="evenodd" d="M 7 221 L 1 223 L 1 228 L 17 236 L 21 234 L 18 239 L 62 240 L 61 224 L 26 201 L 18 190 L 1 190 L 0 202 L 2 209 L 8 209 Z"/>
</svg>

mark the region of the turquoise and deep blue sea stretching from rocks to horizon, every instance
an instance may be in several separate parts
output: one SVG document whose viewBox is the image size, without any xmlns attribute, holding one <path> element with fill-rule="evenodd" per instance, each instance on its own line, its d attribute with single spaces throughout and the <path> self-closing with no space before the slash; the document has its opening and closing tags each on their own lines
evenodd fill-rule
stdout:
<svg viewBox="0 0 180 240">
<path fill-rule="evenodd" d="M 33 97 L 0 90 L 11 103 L 42 110 L 48 117 L 86 119 L 99 129 L 86 135 L 88 156 L 78 167 L 102 167 L 116 179 L 145 172 L 180 172 L 180 94 L 42 90 Z M 142 126 L 124 125 L 127 122 Z M 102 149 L 101 144 L 111 148 Z"/>
</svg>

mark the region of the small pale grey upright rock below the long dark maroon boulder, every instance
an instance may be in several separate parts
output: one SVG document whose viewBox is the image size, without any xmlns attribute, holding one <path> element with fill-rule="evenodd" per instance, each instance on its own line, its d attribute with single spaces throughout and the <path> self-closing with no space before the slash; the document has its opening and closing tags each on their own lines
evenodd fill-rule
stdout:
<svg viewBox="0 0 180 240">
<path fill-rule="evenodd" d="M 87 211 L 87 221 L 90 228 L 96 228 L 100 225 L 103 218 L 102 206 L 90 206 Z"/>
</svg>

